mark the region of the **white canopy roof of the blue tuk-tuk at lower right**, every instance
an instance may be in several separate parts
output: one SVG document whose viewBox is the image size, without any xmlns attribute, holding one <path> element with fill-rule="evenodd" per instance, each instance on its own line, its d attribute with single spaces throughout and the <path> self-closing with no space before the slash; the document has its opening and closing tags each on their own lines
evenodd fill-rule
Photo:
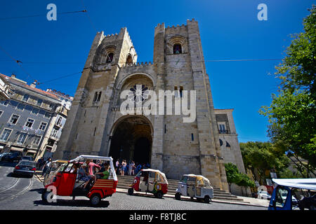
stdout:
<svg viewBox="0 0 316 224">
<path fill-rule="evenodd" d="M 272 179 L 280 186 L 316 190 L 316 179 Z"/>
</svg>

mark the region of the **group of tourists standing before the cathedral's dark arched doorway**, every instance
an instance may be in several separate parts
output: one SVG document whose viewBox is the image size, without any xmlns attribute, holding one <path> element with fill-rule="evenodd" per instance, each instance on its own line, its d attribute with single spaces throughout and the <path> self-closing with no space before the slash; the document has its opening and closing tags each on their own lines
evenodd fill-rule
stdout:
<svg viewBox="0 0 316 224">
<path fill-rule="evenodd" d="M 130 160 L 129 163 L 126 162 L 126 160 L 120 160 L 117 159 L 117 162 L 115 162 L 115 172 L 117 175 L 129 175 L 129 176 L 135 176 L 138 174 L 140 169 L 147 169 L 150 168 L 149 162 L 146 164 L 143 163 L 143 165 L 140 162 L 134 162 L 133 160 Z"/>
</svg>

